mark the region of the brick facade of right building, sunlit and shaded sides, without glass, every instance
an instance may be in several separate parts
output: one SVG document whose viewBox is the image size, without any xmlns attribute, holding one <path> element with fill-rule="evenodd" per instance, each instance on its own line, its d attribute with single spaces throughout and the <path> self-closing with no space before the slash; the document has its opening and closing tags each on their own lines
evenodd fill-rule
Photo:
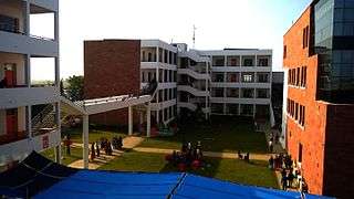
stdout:
<svg viewBox="0 0 354 199">
<path fill-rule="evenodd" d="M 306 66 L 305 86 L 288 86 L 288 98 L 303 105 L 305 114 L 303 126 L 298 116 L 288 114 L 287 148 L 299 160 L 302 145 L 301 170 L 311 193 L 345 198 L 354 196 L 354 106 L 316 101 L 317 55 L 310 53 L 311 25 L 309 7 L 284 35 L 285 70 Z M 304 41 L 306 28 L 309 40 Z"/>
</svg>

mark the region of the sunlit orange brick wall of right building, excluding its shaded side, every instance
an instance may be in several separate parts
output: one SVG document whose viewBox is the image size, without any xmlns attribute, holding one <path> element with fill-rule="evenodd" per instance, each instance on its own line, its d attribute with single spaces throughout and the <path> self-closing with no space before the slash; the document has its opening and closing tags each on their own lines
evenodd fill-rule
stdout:
<svg viewBox="0 0 354 199">
<path fill-rule="evenodd" d="M 323 192 L 323 159 L 326 105 L 317 103 L 317 56 L 309 56 L 310 49 L 303 49 L 303 29 L 310 27 L 311 9 L 308 8 L 284 35 L 287 57 L 285 70 L 306 66 L 306 86 L 304 88 L 289 86 L 288 97 L 305 106 L 304 127 L 288 116 L 287 144 L 293 159 L 299 159 L 299 144 L 302 144 L 302 175 L 312 193 Z M 311 33 L 310 33 L 311 34 Z M 284 80 L 288 81 L 288 80 Z"/>
</svg>

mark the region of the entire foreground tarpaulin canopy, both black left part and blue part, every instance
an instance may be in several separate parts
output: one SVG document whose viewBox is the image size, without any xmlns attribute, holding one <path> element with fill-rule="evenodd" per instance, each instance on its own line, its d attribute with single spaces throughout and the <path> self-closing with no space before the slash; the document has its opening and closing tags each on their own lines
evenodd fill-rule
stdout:
<svg viewBox="0 0 354 199">
<path fill-rule="evenodd" d="M 35 153 L 18 167 L 0 174 L 0 196 L 22 198 L 301 198 L 300 192 L 243 186 L 186 172 L 76 170 Z M 323 197 L 305 195 L 305 198 Z"/>
</svg>

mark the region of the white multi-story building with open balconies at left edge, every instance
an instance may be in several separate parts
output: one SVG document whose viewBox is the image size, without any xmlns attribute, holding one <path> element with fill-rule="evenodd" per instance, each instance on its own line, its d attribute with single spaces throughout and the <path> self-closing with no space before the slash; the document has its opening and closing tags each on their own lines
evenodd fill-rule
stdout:
<svg viewBox="0 0 354 199">
<path fill-rule="evenodd" d="M 31 35 L 31 18 L 37 14 L 53 20 L 53 38 Z M 32 59 L 52 60 L 49 63 L 54 74 L 48 74 L 53 77 L 52 84 L 34 82 L 33 74 L 42 71 L 34 69 Z M 51 147 L 56 147 L 59 157 L 58 0 L 0 1 L 0 166 Z"/>
</svg>

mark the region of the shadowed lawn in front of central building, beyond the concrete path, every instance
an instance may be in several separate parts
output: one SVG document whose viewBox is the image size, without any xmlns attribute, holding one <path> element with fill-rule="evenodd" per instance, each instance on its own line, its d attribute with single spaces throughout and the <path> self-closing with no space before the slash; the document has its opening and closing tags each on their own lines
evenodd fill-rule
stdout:
<svg viewBox="0 0 354 199">
<path fill-rule="evenodd" d="M 179 149 L 183 140 L 201 140 L 204 150 L 267 153 L 263 133 L 254 132 L 253 121 L 238 117 L 212 117 L 211 124 L 179 125 L 179 133 L 173 137 L 148 138 L 140 147 Z"/>
</svg>

